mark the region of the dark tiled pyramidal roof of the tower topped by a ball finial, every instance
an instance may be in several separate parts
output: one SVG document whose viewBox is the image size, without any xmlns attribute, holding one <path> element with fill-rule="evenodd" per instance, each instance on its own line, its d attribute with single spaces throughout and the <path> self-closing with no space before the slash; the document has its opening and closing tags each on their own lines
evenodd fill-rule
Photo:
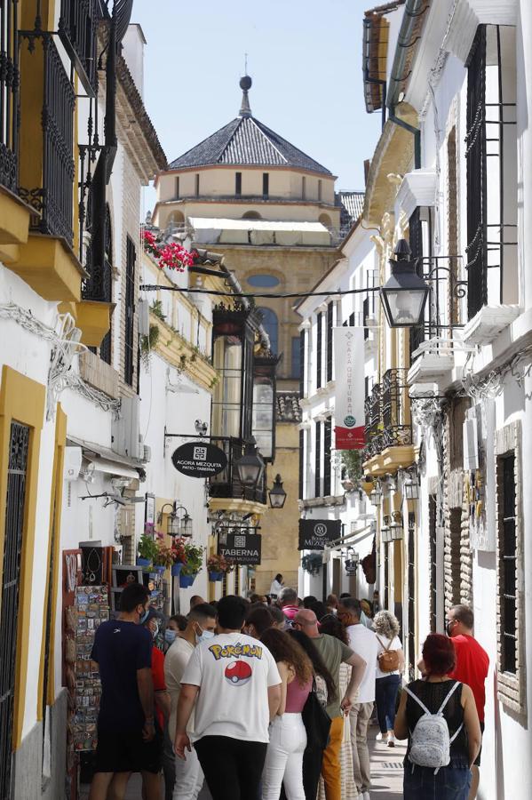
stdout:
<svg viewBox="0 0 532 800">
<path fill-rule="evenodd" d="M 282 139 L 282 136 L 254 116 L 237 116 L 195 148 L 187 150 L 183 156 L 172 161 L 169 169 L 179 170 L 211 164 L 288 166 L 331 175 L 326 167 L 306 156 L 302 150 Z"/>
</svg>

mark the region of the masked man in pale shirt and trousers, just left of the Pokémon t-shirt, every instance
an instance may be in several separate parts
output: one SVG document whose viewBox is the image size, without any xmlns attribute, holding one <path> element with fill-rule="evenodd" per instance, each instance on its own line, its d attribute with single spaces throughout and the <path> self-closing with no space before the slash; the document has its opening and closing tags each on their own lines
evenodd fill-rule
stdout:
<svg viewBox="0 0 532 800">
<path fill-rule="evenodd" d="M 195 605 L 188 614 L 187 628 L 179 631 L 175 641 L 169 647 L 164 659 L 164 676 L 171 698 L 171 715 L 168 726 L 171 740 L 176 732 L 176 709 L 178 708 L 181 678 L 195 646 L 214 636 L 216 611 L 211 605 L 202 603 Z M 187 730 L 194 731 L 194 713 Z M 175 759 L 176 781 L 173 788 L 173 800 L 196 800 L 203 785 L 203 772 L 195 749 L 187 757 L 187 761 Z"/>
</svg>

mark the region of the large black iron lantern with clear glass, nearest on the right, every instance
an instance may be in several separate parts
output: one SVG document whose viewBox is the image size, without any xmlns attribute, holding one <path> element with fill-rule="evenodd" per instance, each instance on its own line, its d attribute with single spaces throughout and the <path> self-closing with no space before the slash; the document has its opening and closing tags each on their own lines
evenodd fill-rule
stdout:
<svg viewBox="0 0 532 800">
<path fill-rule="evenodd" d="M 380 300 L 391 328 L 409 328 L 423 323 L 430 287 L 417 275 L 406 239 L 400 239 L 393 252 L 392 276 L 380 290 Z"/>
</svg>

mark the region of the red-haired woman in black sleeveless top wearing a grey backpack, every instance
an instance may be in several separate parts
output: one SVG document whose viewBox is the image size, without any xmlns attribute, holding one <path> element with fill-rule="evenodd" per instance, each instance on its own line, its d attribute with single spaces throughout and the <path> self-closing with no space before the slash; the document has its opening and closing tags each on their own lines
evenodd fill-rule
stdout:
<svg viewBox="0 0 532 800">
<path fill-rule="evenodd" d="M 474 696 L 469 686 L 449 678 L 457 657 L 447 636 L 427 636 L 423 659 L 425 679 L 402 692 L 395 718 L 395 735 L 409 740 L 403 795 L 467 800 L 482 740 Z"/>
</svg>

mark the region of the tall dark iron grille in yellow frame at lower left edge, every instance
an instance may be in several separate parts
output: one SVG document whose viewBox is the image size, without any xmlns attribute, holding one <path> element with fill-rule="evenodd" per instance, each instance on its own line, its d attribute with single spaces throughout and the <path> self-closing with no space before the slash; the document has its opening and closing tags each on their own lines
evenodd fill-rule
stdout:
<svg viewBox="0 0 532 800">
<path fill-rule="evenodd" d="M 4 569 L 0 604 L 0 797 L 12 797 L 12 723 L 15 699 L 20 572 L 30 428 L 12 422 L 7 465 Z"/>
</svg>

